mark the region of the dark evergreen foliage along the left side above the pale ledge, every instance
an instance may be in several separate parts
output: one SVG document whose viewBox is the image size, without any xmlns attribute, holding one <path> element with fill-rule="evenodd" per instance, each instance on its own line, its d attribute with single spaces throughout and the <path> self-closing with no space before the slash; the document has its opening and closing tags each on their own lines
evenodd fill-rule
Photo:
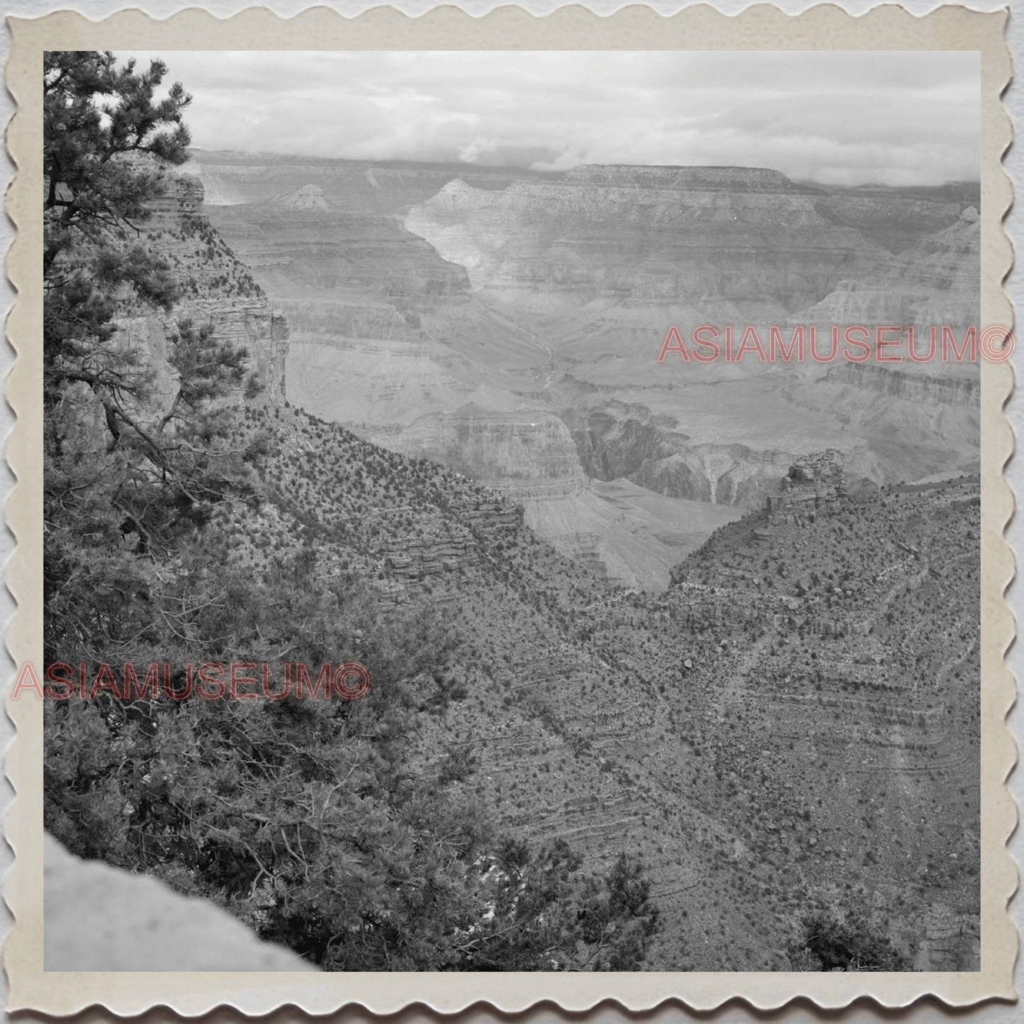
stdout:
<svg viewBox="0 0 1024 1024">
<path fill-rule="evenodd" d="M 314 494 L 373 502 L 401 468 L 442 509 L 444 480 L 354 438 L 348 478 L 322 479 L 325 425 L 243 409 L 244 350 L 179 316 L 158 365 L 117 322 L 128 301 L 179 311 L 136 230 L 186 156 L 188 96 L 156 100 L 165 73 L 110 53 L 44 63 L 45 658 L 70 690 L 78 666 L 89 680 L 89 699 L 45 707 L 45 827 L 326 970 L 639 967 L 657 927 L 639 864 L 584 879 L 564 844 L 500 839 L 460 785 L 469 746 L 441 785 L 413 764 L 421 683 L 451 678 L 451 623 L 429 601 L 382 623 L 357 572 L 321 564 L 352 538 L 364 564 L 374 527 L 326 524 Z M 285 466 L 301 486 L 276 482 Z M 258 565 L 238 561 L 246 530 Z M 265 665 L 275 687 L 286 662 L 354 659 L 372 678 L 359 700 L 195 691 L 205 662 Z M 129 680 L 124 663 L 169 678 Z"/>
</svg>

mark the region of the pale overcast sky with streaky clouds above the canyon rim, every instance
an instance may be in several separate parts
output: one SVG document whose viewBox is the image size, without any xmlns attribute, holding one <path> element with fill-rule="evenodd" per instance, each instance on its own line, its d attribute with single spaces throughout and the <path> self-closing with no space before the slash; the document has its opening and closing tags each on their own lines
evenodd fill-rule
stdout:
<svg viewBox="0 0 1024 1024">
<path fill-rule="evenodd" d="M 976 52 L 193 52 L 196 146 L 365 160 L 977 179 Z"/>
</svg>

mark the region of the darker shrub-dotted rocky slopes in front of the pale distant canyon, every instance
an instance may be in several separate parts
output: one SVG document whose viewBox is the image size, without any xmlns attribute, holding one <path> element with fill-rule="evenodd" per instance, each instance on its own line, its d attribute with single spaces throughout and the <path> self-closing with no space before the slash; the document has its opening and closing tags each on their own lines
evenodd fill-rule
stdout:
<svg viewBox="0 0 1024 1024">
<path fill-rule="evenodd" d="M 357 571 L 382 609 L 451 607 L 418 770 L 468 750 L 443 784 L 511 833 L 592 871 L 642 855 L 666 922 L 648 966 L 786 970 L 822 908 L 919 969 L 976 969 L 976 479 L 854 489 L 839 453 L 802 458 L 784 502 L 643 595 L 451 470 L 295 410 L 253 423 L 278 438 L 269 501 L 225 519 L 232 558 L 313 542 L 325 586 Z"/>
</svg>

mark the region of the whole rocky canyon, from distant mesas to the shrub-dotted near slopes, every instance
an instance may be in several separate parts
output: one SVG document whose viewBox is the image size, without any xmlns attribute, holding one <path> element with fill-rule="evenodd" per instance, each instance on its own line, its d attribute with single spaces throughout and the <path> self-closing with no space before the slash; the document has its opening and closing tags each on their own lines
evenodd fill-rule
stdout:
<svg viewBox="0 0 1024 1024">
<path fill-rule="evenodd" d="M 404 777 L 532 849 L 565 840 L 590 876 L 641 858 L 664 921 L 646 967 L 794 970 L 820 910 L 869 920 L 919 970 L 977 970 L 977 368 L 656 361 L 666 321 L 689 338 L 715 310 L 762 332 L 851 295 L 867 323 L 871 296 L 904 323 L 943 304 L 972 316 L 972 196 L 871 206 L 756 169 L 481 170 L 453 186 L 456 168 L 203 161 L 208 197 L 249 201 L 200 208 L 206 186 L 181 178 L 146 228 L 179 302 L 164 315 L 126 298 L 119 319 L 160 384 L 158 420 L 175 322 L 249 350 L 226 440 L 262 443 L 252 500 L 218 503 L 187 538 L 205 546 L 184 548 L 184 591 L 188 573 L 230 573 L 222 604 L 255 612 L 243 639 L 276 657 L 329 643 L 377 673 L 385 625 L 439 652 L 395 676 L 415 719 Z M 176 756 L 160 743 L 179 707 L 155 712 L 154 765 Z M 223 707 L 252 725 L 286 706 Z M 285 735 L 305 746 L 308 722 Z M 365 724 L 383 756 L 390 723 Z M 104 763 L 123 763 L 103 735 Z M 114 774 L 124 791 L 69 785 L 75 813 L 53 805 L 48 827 L 89 831 L 92 786 L 105 806 L 144 800 L 140 835 L 185 842 L 190 818 L 150 811 L 220 783 L 166 781 L 138 765 Z M 59 790 L 51 776 L 48 799 Z M 253 816 L 214 799 L 228 838 Z M 245 878 L 242 846 L 228 877 Z M 271 867 L 287 886 L 286 847 Z M 151 869 L 181 889 L 196 863 Z M 268 872 L 248 866 L 251 903 Z M 265 931 L 251 906 L 243 919 Z"/>
</svg>

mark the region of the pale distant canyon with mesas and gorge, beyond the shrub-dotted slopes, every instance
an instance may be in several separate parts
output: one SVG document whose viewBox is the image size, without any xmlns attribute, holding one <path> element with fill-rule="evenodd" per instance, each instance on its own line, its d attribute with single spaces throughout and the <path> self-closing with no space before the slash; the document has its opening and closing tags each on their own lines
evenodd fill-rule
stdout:
<svg viewBox="0 0 1024 1024">
<path fill-rule="evenodd" d="M 833 447 L 876 483 L 977 468 L 976 365 L 657 362 L 671 325 L 687 343 L 700 324 L 961 338 L 978 322 L 976 184 L 214 152 L 186 170 L 287 319 L 291 402 L 503 490 L 613 581 L 664 590 L 802 453 Z"/>
</svg>

